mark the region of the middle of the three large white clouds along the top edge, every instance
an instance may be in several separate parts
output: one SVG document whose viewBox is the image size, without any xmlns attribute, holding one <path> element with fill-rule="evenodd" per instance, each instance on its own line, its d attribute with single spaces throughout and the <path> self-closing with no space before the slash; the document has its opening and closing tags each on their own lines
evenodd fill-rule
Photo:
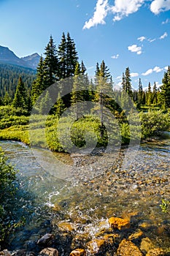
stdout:
<svg viewBox="0 0 170 256">
<path fill-rule="evenodd" d="M 121 20 L 129 14 L 137 12 L 142 4 L 144 4 L 144 0 L 115 0 L 115 5 L 110 7 L 115 15 L 113 20 Z"/>
</svg>

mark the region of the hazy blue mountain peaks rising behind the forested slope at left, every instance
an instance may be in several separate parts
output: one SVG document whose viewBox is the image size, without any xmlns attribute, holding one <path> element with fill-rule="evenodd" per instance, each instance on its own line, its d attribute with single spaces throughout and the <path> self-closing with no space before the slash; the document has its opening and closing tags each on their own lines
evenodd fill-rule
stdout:
<svg viewBox="0 0 170 256">
<path fill-rule="evenodd" d="M 21 67 L 29 67 L 31 69 L 36 69 L 39 63 L 39 54 L 34 53 L 30 56 L 19 58 L 9 50 L 9 48 L 0 45 L 0 62 L 5 64 L 14 64 Z"/>
</svg>

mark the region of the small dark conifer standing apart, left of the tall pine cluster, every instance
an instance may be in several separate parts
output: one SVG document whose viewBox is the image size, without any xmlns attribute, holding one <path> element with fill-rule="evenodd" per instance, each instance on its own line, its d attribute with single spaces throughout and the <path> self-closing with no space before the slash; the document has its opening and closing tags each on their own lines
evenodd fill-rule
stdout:
<svg viewBox="0 0 170 256">
<path fill-rule="evenodd" d="M 18 86 L 15 91 L 15 97 L 12 105 L 14 108 L 27 108 L 26 87 L 24 86 L 23 80 L 21 78 L 18 80 Z"/>
</svg>

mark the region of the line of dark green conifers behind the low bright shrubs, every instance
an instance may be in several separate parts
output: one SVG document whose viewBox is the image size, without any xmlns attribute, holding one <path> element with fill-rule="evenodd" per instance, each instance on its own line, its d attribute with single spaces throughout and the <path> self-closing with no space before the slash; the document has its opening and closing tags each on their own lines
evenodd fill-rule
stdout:
<svg viewBox="0 0 170 256">
<path fill-rule="evenodd" d="M 28 75 L 34 74 L 28 73 Z M 122 106 L 127 105 L 128 98 L 134 102 L 139 110 L 144 106 L 147 108 L 170 108 L 170 67 L 164 73 L 161 88 L 157 88 L 156 83 L 153 86 L 149 83 L 147 90 L 144 90 L 142 80 L 139 78 L 138 89 L 132 89 L 131 72 L 127 67 L 122 75 L 122 88 L 113 89 L 112 75 L 104 60 L 101 61 L 101 64 L 96 64 L 94 79 L 89 80 L 85 64 L 83 61 L 79 62 L 74 40 L 69 33 L 66 36 L 63 33 L 58 47 L 55 45 L 53 37 L 50 36 L 45 48 L 45 58 L 41 56 L 36 69 L 36 78 L 29 86 L 27 82 L 28 80 L 31 82 L 32 78 L 33 76 L 24 80 L 20 76 L 15 94 L 12 94 L 10 86 L 8 89 L 5 88 L 3 93 L 1 92 L 0 104 L 11 104 L 14 108 L 22 108 L 30 112 L 42 92 L 57 82 L 58 95 L 55 96 L 56 103 L 51 110 L 57 116 L 60 116 L 64 109 L 82 101 L 101 102 L 102 105 L 105 105 L 110 110 L 118 111 L 121 109 L 117 102 L 121 101 Z M 69 83 L 71 92 L 61 97 L 62 81 L 66 78 L 72 78 L 72 82 Z M 10 80 L 10 76 L 8 79 Z M 0 90 L 1 88 L 3 86 L 0 87 Z M 45 111 L 52 98 L 53 95 L 50 95 L 47 91 L 47 95 L 42 99 L 42 102 L 39 102 L 40 113 Z M 77 108 L 77 118 L 79 117 L 79 112 L 80 109 Z"/>
</svg>

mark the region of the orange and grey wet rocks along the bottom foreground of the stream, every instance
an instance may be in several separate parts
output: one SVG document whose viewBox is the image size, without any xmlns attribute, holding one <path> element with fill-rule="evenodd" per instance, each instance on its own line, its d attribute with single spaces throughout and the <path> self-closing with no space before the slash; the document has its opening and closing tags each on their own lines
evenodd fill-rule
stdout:
<svg viewBox="0 0 170 256">
<path fill-rule="evenodd" d="M 58 222 L 53 233 L 46 233 L 37 241 L 28 241 L 25 249 L 9 252 L 3 256 L 168 256 L 169 249 L 157 247 L 145 235 L 145 230 L 153 227 L 148 222 L 137 223 L 138 213 L 127 213 L 126 218 L 110 217 L 97 223 L 96 233 L 91 236 L 90 225 L 84 225 L 84 233 L 79 232 L 82 223 Z M 157 227 L 160 233 L 169 232 L 166 225 Z M 170 235 L 170 233 L 169 233 Z"/>
</svg>

